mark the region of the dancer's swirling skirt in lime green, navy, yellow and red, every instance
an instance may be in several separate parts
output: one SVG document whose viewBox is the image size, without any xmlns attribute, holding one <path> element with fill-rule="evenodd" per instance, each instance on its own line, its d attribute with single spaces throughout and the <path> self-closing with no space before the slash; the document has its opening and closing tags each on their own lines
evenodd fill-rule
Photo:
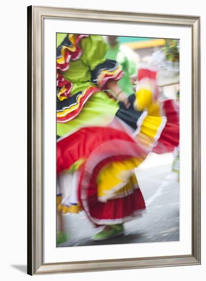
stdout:
<svg viewBox="0 0 206 281">
<path fill-rule="evenodd" d="M 57 124 L 58 210 L 83 209 L 95 225 L 123 223 L 145 210 L 134 168 L 151 151 L 178 146 L 178 116 L 171 102 L 162 104 L 163 115 L 149 116 L 134 110 L 134 95 L 129 99 L 127 109 L 96 92 L 75 119 Z"/>
</svg>

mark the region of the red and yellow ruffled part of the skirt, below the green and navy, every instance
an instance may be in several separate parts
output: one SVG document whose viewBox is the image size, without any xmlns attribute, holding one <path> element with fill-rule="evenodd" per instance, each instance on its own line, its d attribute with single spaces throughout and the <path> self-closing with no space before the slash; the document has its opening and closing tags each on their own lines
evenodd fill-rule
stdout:
<svg viewBox="0 0 206 281">
<path fill-rule="evenodd" d="M 82 128 L 57 142 L 57 174 L 78 167 L 78 203 L 95 225 L 139 216 L 145 202 L 133 169 L 152 150 L 163 153 L 178 145 L 178 125 L 166 117 L 143 116 L 133 136 L 118 123 Z"/>
</svg>

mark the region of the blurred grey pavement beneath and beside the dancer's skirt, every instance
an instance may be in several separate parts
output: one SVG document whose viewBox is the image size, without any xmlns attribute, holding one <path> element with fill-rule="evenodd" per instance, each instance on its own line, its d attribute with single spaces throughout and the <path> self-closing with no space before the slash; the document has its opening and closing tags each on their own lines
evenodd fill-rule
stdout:
<svg viewBox="0 0 206 281">
<path fill-rule="evenodd" d="M 176 173 L 172 172 L 172 162 L 172 153 L 151 154 L 135 170 L 146 212 L 124 224 L 124 235 L 93 241 L 92 237 L 101 227 L 94 227 L 84 212 L 67 214 L 63 220 L 70 239 L 58 247 L 179 241 L 179 183 Z"/>
</svg>

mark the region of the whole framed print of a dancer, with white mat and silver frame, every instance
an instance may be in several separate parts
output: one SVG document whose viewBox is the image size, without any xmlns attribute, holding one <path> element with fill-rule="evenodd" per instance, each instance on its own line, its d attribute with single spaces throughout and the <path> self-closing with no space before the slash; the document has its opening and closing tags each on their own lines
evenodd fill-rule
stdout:
<svg viewBox="0 0 206 281">
<path fill-rule="evenodd" d="M 28 7 L 28 274 L 200 264 L 200 18 Z"/>
</svg>

